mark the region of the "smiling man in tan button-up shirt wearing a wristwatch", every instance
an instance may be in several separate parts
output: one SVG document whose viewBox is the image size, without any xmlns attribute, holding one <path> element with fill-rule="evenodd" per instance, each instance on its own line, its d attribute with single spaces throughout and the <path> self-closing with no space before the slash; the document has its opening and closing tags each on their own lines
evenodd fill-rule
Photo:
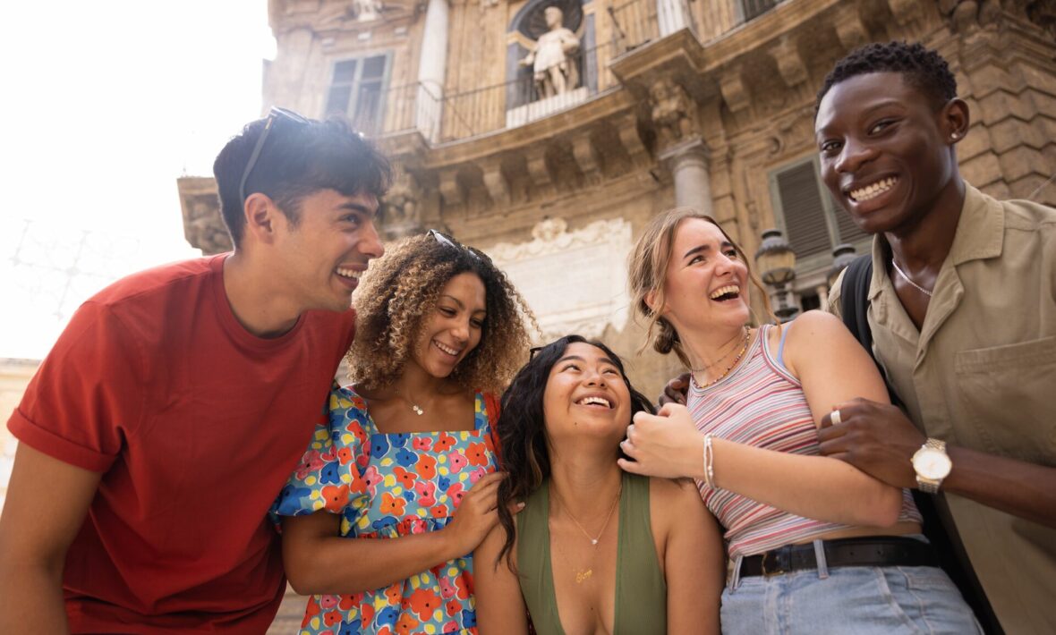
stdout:
<svg viewBox="0 0 1056 635">
<path fill-rule="evenodd" d="M 956 95 L 945 60 L 899 42 L 850 54 L 818 94 L 823 179 L 874 234 L 873 354 L 909 416 L 834 404 L 822 451 L 939 492 L 1000 627 L 1054 633 L 1056 210 L 964 182 Z"/>
</svg>

